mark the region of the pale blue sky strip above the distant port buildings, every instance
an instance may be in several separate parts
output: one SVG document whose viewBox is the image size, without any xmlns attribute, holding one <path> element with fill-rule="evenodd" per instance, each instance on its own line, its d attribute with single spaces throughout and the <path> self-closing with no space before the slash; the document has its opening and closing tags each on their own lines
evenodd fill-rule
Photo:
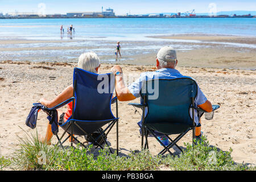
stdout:
<svg viewBox="0 0 256 182">
<path fill-rule="evenodd" d="M 147 13 L 176 13 L 195 9 L 196 13 L 208 13 L 209 4 L 215 3 L 217 11 L 247 10 L 256 11 L 256 1 L 208 1 L 208 0 L 0 0 L 0 13 L 14 12 L 38 12 L 39 3 L 46 5 L 45 13 L 65 14 L 71 11 L 101 11 L 111 7 L 115 14 L 147 14 Z"/>
</svg>

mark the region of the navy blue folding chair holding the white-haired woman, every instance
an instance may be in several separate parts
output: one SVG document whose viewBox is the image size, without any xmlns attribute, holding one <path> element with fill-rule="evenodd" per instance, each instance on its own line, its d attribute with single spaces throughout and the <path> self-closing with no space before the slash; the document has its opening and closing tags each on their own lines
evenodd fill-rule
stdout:
<svg viewBox="0 0 256 182">
<path fill-rule="evenodd" d="M 92 143 L 104 148 L 101 143 L 106 143 L 106 136 L 109 131 L 116 124 L 117 126 L 117 155 L 118 155 L 118 102 L 117 97 L 113 97 L 115 86 L 115 77 L 113 73 L 101 74 L 88 72 L 80 68 L 75 68 L 73 73 L 73 97 L 67 101 L 50 108 L 49 110 L 55 110 L 62 107 L 65 104 L 73 101 L 72 115 L 65 123 L 59 123 L 60 127 L 64 129 L 64 133 L 56 137 L 58 143 L 63 147 L 63 143 L 71 137 L 71 141 L 76 140 L 82 146 L 86 147 L 73 135 L 87 136 Z M 111 104 L 116 104 L 116 117 L 114 117 Z M 100 130 L 101 127 L 107 125 L 105 130 Z M 93 137 L 93 133 L 100 131 L 100 135 L 96 138 Z M 68 137 L 61 142 L 65 134 Z M 99 139 L 103 139 L 101 142 Z M 73 142 L 71 142 L 73 146 Z M 110 152 L 112 150 L 109 147 Z M 113 152 L 112 152 L 113 153 Z"/>
</svg>

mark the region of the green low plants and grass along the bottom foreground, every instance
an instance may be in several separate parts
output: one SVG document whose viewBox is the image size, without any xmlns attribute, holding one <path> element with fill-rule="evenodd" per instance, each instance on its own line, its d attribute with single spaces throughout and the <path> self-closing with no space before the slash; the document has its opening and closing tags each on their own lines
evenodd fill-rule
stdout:
<svg viewBox="0 0 256 182">
<path fill-rule="evenodd" d="M 209 145 L 206 138 L 192 147 L 185 144 L 184 154 L 179 156 L 152 156 L 148 150 L 131 152 L 128 156 L 109 154 L 107 148 L 95 155 L 88 148 L 62 149 L 43 144 L 38 140 L 38 133 L 19 138 L 19 149 L 11 158 L 1 157 L 1 169 L 14 170 L 255 170 L 255 166 L 233 162 L 230 151 L 219 151 Z M 39 160 L 43 155 L 46 160 Z M 40 162 L 42 162 L 40 164 Z"/>
</svg>

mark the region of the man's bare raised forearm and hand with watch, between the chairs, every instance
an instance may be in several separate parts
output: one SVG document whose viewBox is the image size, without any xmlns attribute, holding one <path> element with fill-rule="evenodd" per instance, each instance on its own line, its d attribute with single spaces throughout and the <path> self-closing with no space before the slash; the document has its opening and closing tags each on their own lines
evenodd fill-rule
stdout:
<svg viewBox="0 0 256 182">
<path fill-rule="evenodd" d="M 136 97 L 130 92 L 130 90 L 125 86 L 123 81 L 122 69 L 118 65 L 115 65 L 111 71 L 115 74 L 120 72 L 121 74 L 115 75 L 115 93 L 119 101 L 131 101 Z"/>
</svg>

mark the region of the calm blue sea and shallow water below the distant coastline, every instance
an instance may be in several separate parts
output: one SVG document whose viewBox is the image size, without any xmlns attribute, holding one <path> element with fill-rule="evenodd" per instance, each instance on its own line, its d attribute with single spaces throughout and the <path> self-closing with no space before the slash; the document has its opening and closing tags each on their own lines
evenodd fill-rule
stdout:
<svg viewBox="0 0 256 182">
<path fill-rule="evenodd" d="M 61 24 L 64 27 L 64 34 L 60 34 Z M 75 34 L 72 36 L 67 34 L 70 24 L 75 28 Z M 1 60 L 69 61 L 82 52 L 94 51 L 101 56 L 101 59 L 104 57 L 103 60 L 112 61 L 117 41 L 121 42 L 124 57 L 155 52 L 166 45 L 181 51 L 202 46 L 198 40 L 148 38 L 148 36 L 175 34 L 256 36 L 256 18 L 0 19 L 0 49 L 2 48 L 0 57 Z M 60 40 L 60 42 L 1 44 L 1 40 L 9 39 Z M 209 42 L 209 44 L 216 43 Z M 256 48 L 255 44 L 218 44 Z M 80 48 L 67 48 L 72 46 Z M 46 50 L 46 47 L 51 49 Z M 61 49 L 61 47 L 65 48 Z"/>
</svg>

